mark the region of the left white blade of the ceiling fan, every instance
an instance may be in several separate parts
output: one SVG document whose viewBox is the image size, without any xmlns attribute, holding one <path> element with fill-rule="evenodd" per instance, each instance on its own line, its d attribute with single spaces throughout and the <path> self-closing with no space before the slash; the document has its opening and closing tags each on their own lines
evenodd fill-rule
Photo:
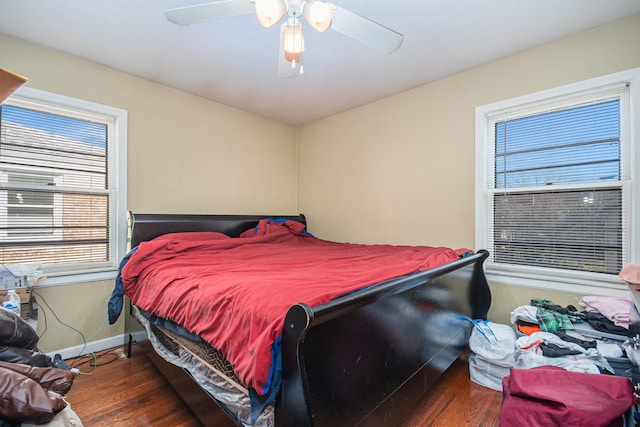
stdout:
<svg viewBox="0 0 640 427">
<path fill-rule="evenodd" d="M 231 16 L 247 15 L 253 13 L 254 10 L 254 5 L 249 0 L 223 0 L 169 9 L 164 12 L 164 15 L 175 24 L 191 25 Z"/>
</svg>

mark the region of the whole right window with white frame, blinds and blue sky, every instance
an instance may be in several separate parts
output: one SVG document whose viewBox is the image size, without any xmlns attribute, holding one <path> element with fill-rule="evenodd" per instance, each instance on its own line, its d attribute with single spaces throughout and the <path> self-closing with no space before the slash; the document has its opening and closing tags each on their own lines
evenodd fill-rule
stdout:
<svg viewBox="0 0 640 427">
<path fill-rule="evenodd" d="M 491 253 L 490 281 L 626 290 L 618 273 L 639 247 L 638 85 L 640 69 L 476 109 L 476 245 Z"/>
</svg>

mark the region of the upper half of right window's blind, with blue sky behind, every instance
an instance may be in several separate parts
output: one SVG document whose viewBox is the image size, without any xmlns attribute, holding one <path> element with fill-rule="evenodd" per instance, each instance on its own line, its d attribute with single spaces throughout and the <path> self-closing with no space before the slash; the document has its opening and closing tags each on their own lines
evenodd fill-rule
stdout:
<svg viewBox="0 0 640 427">
<path fill-rule="evenodd" d="M 619 99 L 495 126 L 495 188 L 620 180 Z"/>
</svg>

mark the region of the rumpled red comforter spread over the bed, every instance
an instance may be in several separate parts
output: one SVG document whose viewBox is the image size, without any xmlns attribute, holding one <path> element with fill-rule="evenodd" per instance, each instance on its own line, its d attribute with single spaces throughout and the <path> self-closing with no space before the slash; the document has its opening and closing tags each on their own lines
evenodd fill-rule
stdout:
<svg viewBox="0 0 640 427">
<path fill-rule="evenodd" d="M 317 306 L 469 251 L 329 242 L 293 221 L 263 220 L 239 238 L 194 236 L 141 243 L 121 272 L 125 293 L 222 351 L 260 394 L 267 392 L 272 346 L 290 306 Z"/>
</svg>

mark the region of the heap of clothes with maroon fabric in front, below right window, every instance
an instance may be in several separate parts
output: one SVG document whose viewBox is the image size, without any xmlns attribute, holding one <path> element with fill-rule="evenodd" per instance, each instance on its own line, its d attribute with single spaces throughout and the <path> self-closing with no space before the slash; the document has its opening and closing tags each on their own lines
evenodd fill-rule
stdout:
<svg viewBox="0 0 640 427">
<path fill-rule="evenodd" d="M 626 357 L 631 301 L 585 296 L 578 305 L 533 299 L 511 313 L 520 336 L 514 369 L 503 378 L 501 427 L 604 427 L 631 419 L 633 386 L 612 366 Z"/>
</svg>

